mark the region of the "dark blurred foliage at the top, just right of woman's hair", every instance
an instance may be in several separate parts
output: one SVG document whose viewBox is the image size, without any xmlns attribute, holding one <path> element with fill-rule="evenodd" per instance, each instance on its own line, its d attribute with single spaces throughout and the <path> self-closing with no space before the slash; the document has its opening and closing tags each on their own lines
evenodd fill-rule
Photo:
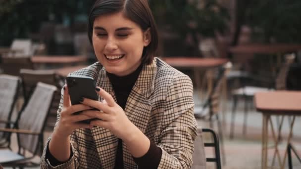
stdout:
<svg viewBox="0 0 301 169">
<path fill-rule="evenodd" d="M 228 11 L 217 0 L 150 0 L 150 5 L 158 25 L 167 25 L 182 37 L 189 33 L 213 37 L 214 31 L 227 29 Z"/>
</svg>

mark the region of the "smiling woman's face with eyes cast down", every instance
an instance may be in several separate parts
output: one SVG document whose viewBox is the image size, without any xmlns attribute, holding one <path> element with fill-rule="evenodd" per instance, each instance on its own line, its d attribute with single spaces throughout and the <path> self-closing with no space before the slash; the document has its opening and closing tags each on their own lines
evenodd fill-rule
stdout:
<svg viewBox="0 0 301 169">
<path fill-rule="evenodd" d="M 122 12 L 101 15 L 94 21 L 93 47 L 105 70 L 116 76 L 134 72 L 142 61 L 142 51 L 150 43 L 143 30 Z"/>
</svg>

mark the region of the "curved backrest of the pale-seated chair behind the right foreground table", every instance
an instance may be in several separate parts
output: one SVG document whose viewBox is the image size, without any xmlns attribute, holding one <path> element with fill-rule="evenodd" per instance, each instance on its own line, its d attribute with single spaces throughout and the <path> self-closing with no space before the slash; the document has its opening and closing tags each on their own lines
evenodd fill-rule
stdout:
<svg viewBox="0 0 301 169">
<path fill-rule="evenodd" d="M 290 69 L 290 65 L 294 62 L 294 59 L 295 59 L 295 54 L 285 55 L 285 63 L 282 64 L 276 78 L 276 82 L 275 82 L 276 90 L 286 89 L 286 80 L 287 80 L 288 72 Z"/>
</svg>

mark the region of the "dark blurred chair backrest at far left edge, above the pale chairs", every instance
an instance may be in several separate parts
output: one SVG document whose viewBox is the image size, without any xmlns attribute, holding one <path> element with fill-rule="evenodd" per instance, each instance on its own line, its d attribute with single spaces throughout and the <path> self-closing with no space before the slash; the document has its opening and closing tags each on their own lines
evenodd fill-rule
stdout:
<svg viewBox="0 0 301 169">
<path fill-rule="evenodd" d="M 30 57 L 2 57 L 1 68 L 4 74 L 19 76 L 20 69 L 33 69 Z"/>
</svg>

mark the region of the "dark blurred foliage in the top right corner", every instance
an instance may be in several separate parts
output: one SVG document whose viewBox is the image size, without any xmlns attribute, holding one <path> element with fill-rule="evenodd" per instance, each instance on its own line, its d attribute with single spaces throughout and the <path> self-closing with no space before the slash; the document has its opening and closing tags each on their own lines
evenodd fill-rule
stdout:
<svg viewBox="0 0 301 169">
<path fill-rule="evenodd" d="M 301 42 L 301 0 L 251 0 L 247 24 L 254 39 L 264 42 Z"/>
</svg>

